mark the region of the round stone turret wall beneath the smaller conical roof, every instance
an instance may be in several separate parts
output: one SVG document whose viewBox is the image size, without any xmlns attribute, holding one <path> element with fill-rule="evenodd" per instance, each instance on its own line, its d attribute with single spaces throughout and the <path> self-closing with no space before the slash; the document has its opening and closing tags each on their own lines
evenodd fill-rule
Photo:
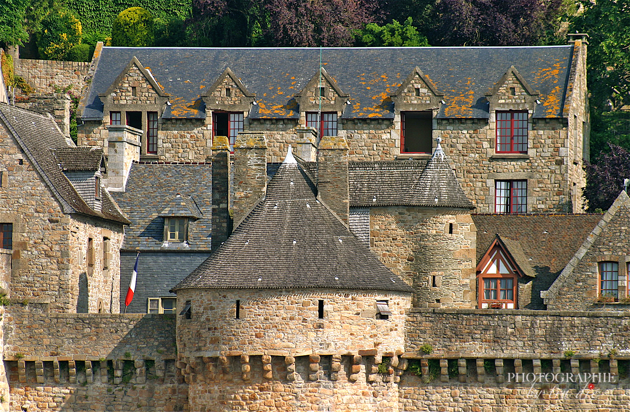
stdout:
<svg viewBox="0 0 630 412">
<path fill-rule="evenodd" d="M 370 207 L 370 249 L 416 290 L 414 306 L 474 307 L 475 239 L 467 210 Z"/>
</svg>

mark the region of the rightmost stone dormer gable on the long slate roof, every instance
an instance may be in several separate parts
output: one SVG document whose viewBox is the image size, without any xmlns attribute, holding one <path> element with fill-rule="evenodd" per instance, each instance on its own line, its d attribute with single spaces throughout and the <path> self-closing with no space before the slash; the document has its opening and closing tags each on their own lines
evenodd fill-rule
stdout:
<svg viewBox="0 0 630 412">
<path fill-rule="evenodd" d="M 516 67 L 503 74 L 495 86 L 486 93 L 490 112 L 495 110 L 534 110 L 539 91 L 532 89 Z"/>
</svg>

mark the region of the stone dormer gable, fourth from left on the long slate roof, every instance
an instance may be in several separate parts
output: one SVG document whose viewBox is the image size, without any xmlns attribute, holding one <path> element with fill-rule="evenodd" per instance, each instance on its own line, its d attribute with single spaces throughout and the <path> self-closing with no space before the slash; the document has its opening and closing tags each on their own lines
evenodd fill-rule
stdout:
<svg viewBox="0 0 630 412">
<path fill-rule="evenodd" d="M 414 67 L 396 93 L 391 95 L 394 110 L 422 111 L 437 110 L 444 93 L 440 93 L 420 67 Z"/>
</svg>

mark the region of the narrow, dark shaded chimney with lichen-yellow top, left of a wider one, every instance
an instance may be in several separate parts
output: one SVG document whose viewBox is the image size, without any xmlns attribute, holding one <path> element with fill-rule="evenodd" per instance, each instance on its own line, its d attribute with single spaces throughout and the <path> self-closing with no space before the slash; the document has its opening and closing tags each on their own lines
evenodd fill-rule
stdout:
<svg viewBox="0 0 630 412">
<path fill-rule="evenodd" d="M 212 250 L 230 236 L 230 142 L 212 140 Z"/>
</svg>

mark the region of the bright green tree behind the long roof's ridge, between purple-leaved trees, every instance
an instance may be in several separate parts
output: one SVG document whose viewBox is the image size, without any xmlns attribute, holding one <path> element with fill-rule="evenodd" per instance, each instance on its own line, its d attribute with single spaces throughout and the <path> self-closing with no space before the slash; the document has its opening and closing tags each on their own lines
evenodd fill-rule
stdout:
<svg viewBox="0 0 630 412">
<path fill-rule="evenodd" d="M 427 38 L 413 26 L 413 19 L 408 17 L 401 25 L 398 20 L 392 20 L 384 26 L 376 23 L 365 25 L 355 34 L 357 45 L 368 47 L 418 47 L 428 46 Z"/>
</svg>

